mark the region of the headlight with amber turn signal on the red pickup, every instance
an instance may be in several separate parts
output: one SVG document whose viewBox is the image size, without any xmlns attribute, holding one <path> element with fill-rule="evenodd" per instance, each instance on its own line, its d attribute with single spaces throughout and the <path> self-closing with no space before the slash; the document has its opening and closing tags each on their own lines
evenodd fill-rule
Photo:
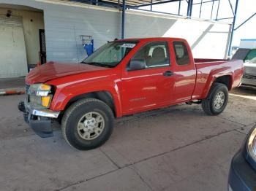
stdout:
<svg viewBox="0 0 256 191">
<path fill-rule="evenodd" d="M 29 87 L 29 101 L 34 106 L 50 107 L 50 101 L 53 97 L 52 87 L 45 84 L 34 84 Z"/>
</svg>

